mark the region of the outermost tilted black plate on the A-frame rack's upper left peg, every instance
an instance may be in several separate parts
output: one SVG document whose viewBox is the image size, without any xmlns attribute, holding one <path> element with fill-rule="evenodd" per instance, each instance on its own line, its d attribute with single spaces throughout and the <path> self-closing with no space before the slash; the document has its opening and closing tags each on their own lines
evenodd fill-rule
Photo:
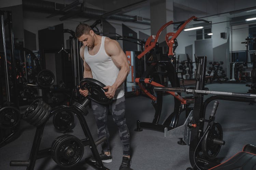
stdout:
<svg viewBox="0 0 256 170">
<path fill-rule="evenodd" d="M 34 116 L 38 112 L 38 110 L 42 107 L 43 101 L 41 99 L 34 100 L 26 109 L 23 119 L 29 121 L 31 117 Z"/>
</svg>

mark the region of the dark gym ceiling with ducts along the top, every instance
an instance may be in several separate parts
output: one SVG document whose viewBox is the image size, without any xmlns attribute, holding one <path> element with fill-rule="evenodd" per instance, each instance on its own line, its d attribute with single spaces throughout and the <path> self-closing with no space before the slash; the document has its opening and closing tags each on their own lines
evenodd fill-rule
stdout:
<svg viewBox="0 0 256 170">
<path fill-rule="evenodd" d="M 81 18 L 81 22 L 96 19 L 114 19 L 120 20 L 123 17 L 130 18 L 130 22 L 138 22 L 136 16 L 143 17 L 142 24 L 150 25 L 150 4 L 151 3 L 165 3 L 165 0 L 47 0 L 56 4 L 62 5 L 54 12 L 45 10 L 49 16 L 59 15 L 60 20 L 69 20 L 72 18 Z M 33 0 L 23 0 L 24 2 L 30 2 L 31 4 L 37 2 Z M 245 3 L 246 2 L 246 3 Z M 73 8 L 70 8 L 69 4 L 75 3 Z M 83 5 L 83 6 L 82 6 Z M 58 5 L 55 5 L 56 7 Z M 38 5 L 40 8 L 40 6 Z M 41 6 L 41 8 L 46 5 Z M 68 8 L 63 12 L 62 8 Z M 166 7 L 167 10 L 168 6 Z M 95 15 L 89 15 L 89 9 L 95 9 L 98 13 Z M 173 0 L 173 20 L 174 22 L 183 21 L 192 15 L 198 18 L 204 18 L 211 20 L 216 16 L 226 16 L 227 21 L 244 21 L 246 17 L 256 17 L 256 1 L 255 0 Z M 28 8 L 27 8 L 28 10 Z M 30 9 L 31 10 L 31 9 Z M 38 12 L 37 8 L 34 8 Z M 82 10 L 82 12 L 81 12 Z M 25 10 L 26 11 L 26 10 Z M 29 10 L 28 10 L 29 11 Z M 86 13 L 87 12 L 87 13 Z M 81 15 L 83 13 L 83 15 Z M 115 18 L 113 17 L 115 16 Z M 111 18 L 112 17 L 112 18 Z"/>
</svg>

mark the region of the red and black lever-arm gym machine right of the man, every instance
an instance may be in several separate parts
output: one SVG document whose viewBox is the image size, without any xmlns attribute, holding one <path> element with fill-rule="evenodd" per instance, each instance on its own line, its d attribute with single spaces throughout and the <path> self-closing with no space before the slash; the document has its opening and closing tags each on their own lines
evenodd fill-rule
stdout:
<svg viewBox="0 0 256 170">
<path fill-rule="evenodd" d="M 139 84 L 141 90 L 152 99 L 152 104 L 155 108 L 155 115 L 152 122 L 141 122 L 140 120 L 137 120 L 137 129 L 135 131 L 142 131 L 142 128 L 152 129 L 152 130 L 159 130 L 164 132 L 165 128 L 173 129 L 177 126 L 177 122 L 179 120 L 180 113 L 182 111 L 189 112 L 191 107 L 188 107 L 190 103 L 194 102 L 194 98 L 186 97 L 182 98 L 180 97 L 179 93 L 173 93 L 171 95 L 174 96 L 174 111 L 169 115 L 169 117 L 165 120 L 163 124 L 159 124 L 159 119 L 161 116 L 161 109 L 162 109 L 162 93 L 161 92 L 155 92 L 151 89 L 146 89 L 146 87 L 142 83 L 146 84 L 152 84 L 153 86 L 163 86 L 160 84 L 159 80 L 159 74 L 166 74 L 172 87 L 180 87 L 180 83 L 177 78 L 177 72 L 176 72 L 176 57 L 175 57 L 175 49 L 178 46 L 177 42 L 177 36 L 181 33 L 181 31 L 186 27 L 186 25 L 191 21 L 204 21 L 211 23 L 206 20 L 197 19 L 195 16 L 190 17 L 188 20 L 183 22 L 173 22 L 169 21 L 166 24 L 164 24 L 157 32 L 156 36 L 150 36 L 146 40 L 145 44 L 145 50 L 137 56 L 137 58 L 142 58 L 146 53 L 154 53 L 154 48 L 158 47 L 158 38 L 160 33 L 163 29 L 165 29 L 170 24 L 177 24 L 179 23 L 179 26 L 177 27 L 177 31 L 175 33 L 170 32 L 166 34 L 165 40 L 167 45 L 169 46 L 169 52 L 168 56 L 163 56 L 160 61 L 150 61 L 150 66 L 147 68 L 147 70 L 143 73 L 142 78 L 136 79 L 136 83 Z M 190 63 L 189 63 L 190 64 Z M 158 71 L 157 66 L 161 65 L 164 68 L 164 71 Z M 152 79 L 145 79 L 152 77 Z M 152 87 L 152 86 L 150 86 Z"/>
</svg>

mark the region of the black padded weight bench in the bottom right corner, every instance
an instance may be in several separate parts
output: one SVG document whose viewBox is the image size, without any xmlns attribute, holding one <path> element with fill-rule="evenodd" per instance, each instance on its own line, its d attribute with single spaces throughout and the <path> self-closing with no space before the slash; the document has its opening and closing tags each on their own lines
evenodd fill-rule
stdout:
<svg viewBox="0 0 256 170">
<path fill-rule="evenodd" d="M 255 170 L 256 169 L 256 146 L 245 145 L 242 152 L 229 158 L 222 164 L 219 164 L 209 170 Z"/>
</svg>

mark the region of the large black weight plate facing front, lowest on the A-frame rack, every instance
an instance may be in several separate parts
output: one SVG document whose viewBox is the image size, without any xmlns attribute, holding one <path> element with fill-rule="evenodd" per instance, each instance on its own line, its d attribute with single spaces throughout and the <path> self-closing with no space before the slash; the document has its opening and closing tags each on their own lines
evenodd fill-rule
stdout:
<svg viewBox="0 0 256 170">
<path fill-rule="evenodd" d="M 52 143 L 52 158 L 61 167 L 75 166 L 84 154 L 84 145 L 73 135 L 62 135 Z"/>
</svg>

